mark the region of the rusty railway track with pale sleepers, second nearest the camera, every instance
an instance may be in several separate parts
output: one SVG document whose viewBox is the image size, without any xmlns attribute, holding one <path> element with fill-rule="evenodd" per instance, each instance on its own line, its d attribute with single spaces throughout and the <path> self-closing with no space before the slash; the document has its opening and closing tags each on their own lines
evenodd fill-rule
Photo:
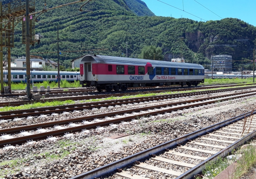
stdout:
<svg viewBox="0 0 256 179">
<path fill-rule="evenodd" d="M 175 103 L 166 103 L 161 105 L 140 107 L 140 108 L 128 109 L 125 111 L 117 111 L 112 113 L 102 113 L 98 115 L 66 119 L 61 121 L 52 121 L 52 122 L 32 124 L 32 125 L 26 125 L 26 126 L 20 126 L 20 127 L 5 128 L 5 129 L 0 129 L 0 134 L 2 134 L 1 138 L 3 139 L 3 140 L 0 140 L 0 145 L 3 146 L 6 144 L 21 144 L 28 140 L 35 141 L 39 139 L 45 139 L 48 136 L 58 136 L 58 135 L 63 135 L 64 133 L 67 133 L 67 132 L 81 131 L 85 128 L 92 129 L 98 126 L 106 126 L 109 124 L 119 123 L 121 121 L 130 121 L 132 119 L 137 119 L 137 118 L 141 118 L 148 115 L 158 115 L 163 113 L 169 113 L 171 111 L 182 110 L 182 109 L 200 106 L 200 105 L 208 105 L 208 104 L 216 103 L 219 101 L 225 101 L 229 99 L 241 98 L 241 97 L 253 96 L 253 95 L 256 95 L 256 90 L 250 91 L 250 92 L 247 91 L 247 92 L 233 93 L 233 94 L 221 95 L 221 96 L 215 96 L 215 97 L 206 97 L 206 98 L 200 98 L 200 99 L 187 100 L 186 101 L 187 104 L 184 104 L 184 101 L 175 102 Z M 94 122 L 90 122 L 96 118 L 97 120 L 95 120 Z M 101 118 L 102 120 L 98 120 Z M 78 124 L 75 124 L 75 123 L 78 123 Z M 56 125 L 67 125 L 67 126 L 58 127 Z M 42 128 L 43 130 L 41 130 Z M 44 128 L 51 128 L 52 130 L 49 131 L 49 129 L 44 129 Z M 31 131 L 31 130 L 37 130 L 37 131 Z M 22 132 L 19 133 L 20 131 Z M 26 132 L 26 131 L 29 131 L 29 132 Z M 9 135 L 9 134 L 15 134 L 15 133 L 19 133 L 18 136 L 13 137 Z"/>
</svg>

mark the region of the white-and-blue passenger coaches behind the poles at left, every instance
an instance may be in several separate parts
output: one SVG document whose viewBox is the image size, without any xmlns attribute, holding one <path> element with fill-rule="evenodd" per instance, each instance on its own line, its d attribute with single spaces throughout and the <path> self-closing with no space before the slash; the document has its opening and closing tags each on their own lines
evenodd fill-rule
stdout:
<svg viewBox="0 0 256 179">
<path fill-rule="evenodd" d="M 57 71 L 31 71 L 30 78 L 33 82 L 57 82 Z M 80 80 L 79 72 L 60 72 L 61 80 L 74 82 Z M 27 72 L 24 70 L 11 70 L 12 82 L 27 82 Z M 4 70 L 4 82 L 8 82 L 8 73 Z M 31 81 L 32 82 L 32 81 Z"/>
</svg>

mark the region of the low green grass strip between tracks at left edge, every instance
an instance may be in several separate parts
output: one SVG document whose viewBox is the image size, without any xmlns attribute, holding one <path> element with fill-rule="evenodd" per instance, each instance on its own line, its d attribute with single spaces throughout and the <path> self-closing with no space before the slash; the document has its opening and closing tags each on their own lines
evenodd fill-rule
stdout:
<svg viewBox="0 0 256 179">
<path fill-rule="evenodd" d="M 0 112 L 5 111 L 14 111 L 14 110 L 23 110 L 23 109 L 33 109 L 33 108 L 42 108 L 42 107 L 49 107 L 49 106 L 59 106 L 59 105 L 68 105 L 68 104 L 74 104 L 75 102 L 73 100 L 66 100 L 66 101 L 52 101 L 52 102 L 45 102 L 45 103 L 32 103 L 32 104 L 26 104 L 26 105 L 20 105 L 20 106 L 6 106 L 0 108 Z"/>
</svg>

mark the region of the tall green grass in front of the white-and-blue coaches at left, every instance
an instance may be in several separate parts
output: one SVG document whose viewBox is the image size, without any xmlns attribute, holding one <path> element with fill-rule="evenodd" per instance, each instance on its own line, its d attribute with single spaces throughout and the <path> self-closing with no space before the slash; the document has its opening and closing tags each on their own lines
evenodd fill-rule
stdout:
<svg viewBox="0 0 256 179">
<path fill-rule="evenodd" d="M 27 84 L 23 83 L 23 82 L 20 82 L 20 83 L 13 83 L 12 82 L 11 85 L 12 85 L 12 90 L 24 90 L 27 86 Z M 44 86 L 45 89 L 47 88 L 47 86 L 50 86 L 50 88 L 57 88 L 58 83 L 57 82 L 44 81 L 42 83 L 34 83 L 34 86 L 37 86 L 37 89 L 40 89 L 40 86 Z M 67 80 L 61 80 L 60 81 L 60 87 L 61 88 L 78 88 L 78 87 L 82 87 L 82 85 L 80 85 L 79 81 L 68 82 Z"/>
</svg>

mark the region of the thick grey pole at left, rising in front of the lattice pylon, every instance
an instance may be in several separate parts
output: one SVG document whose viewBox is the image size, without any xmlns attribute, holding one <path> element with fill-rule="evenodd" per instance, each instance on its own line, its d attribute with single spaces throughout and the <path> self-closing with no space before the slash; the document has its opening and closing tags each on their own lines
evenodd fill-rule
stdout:
<svg viewBox="0 0 256 179">
<path fill-rule="evenodd" d="M 26 67 L 27 67 L 27 97 L 31 99 L 30 91 L 30 47 L 29 47 L 29 0 L 26 0 Z"/>
</svg>

